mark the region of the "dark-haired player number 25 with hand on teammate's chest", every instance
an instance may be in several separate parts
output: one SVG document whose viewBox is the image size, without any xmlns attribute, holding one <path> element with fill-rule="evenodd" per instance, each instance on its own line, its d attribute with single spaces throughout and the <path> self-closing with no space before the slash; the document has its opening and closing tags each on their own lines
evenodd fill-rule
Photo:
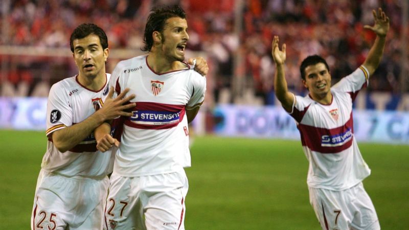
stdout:
<svg viewBox="0 0 409 230">
<path fill-rule="evenodd" d="M 31 229 L 102 229 L 113 155 L 97 150 L 93 131 L 107 119 L 132 116 L 123 110 L 135 106 L 123 105 L 134 97 L 123 98 L 128 89 L 111 99 L 110 74 L 105 73 L 108 40 L 101 28 L 78 26 L 70 46 L 78 75 L 57 82 L 50 90 L 48 144 L 37 180 Z"/>
</svg>

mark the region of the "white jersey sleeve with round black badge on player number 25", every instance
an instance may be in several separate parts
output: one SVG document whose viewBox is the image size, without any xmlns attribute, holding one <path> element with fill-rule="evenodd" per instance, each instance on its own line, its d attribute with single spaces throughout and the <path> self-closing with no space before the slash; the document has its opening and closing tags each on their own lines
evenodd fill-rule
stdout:
<svg viewBox="0 0 409 230">
<path fill-rule="evenodd" d="M 70 98 L 64 90 L 63 83 L 58 82 L 50 89 L 47 102 L 47 130 L 46 135 L 73 124 L 73 108 Z"/>
</svg>

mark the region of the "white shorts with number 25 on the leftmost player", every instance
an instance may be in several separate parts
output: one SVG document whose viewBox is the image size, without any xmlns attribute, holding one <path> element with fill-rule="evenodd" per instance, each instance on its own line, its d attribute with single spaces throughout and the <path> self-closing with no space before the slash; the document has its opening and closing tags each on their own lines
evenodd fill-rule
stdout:
<svg viewBox="0 0 409 230">
<path fill-rule="evenodd" d="M 101 230 L 109 179 L 71 178 L 40 171 L 31 229 Z"/>
</svg>

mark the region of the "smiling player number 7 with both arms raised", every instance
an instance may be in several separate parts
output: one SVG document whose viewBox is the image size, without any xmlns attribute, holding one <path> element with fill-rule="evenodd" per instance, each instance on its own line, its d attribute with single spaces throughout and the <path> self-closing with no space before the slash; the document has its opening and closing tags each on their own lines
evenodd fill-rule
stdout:
<svg viewBox="0 0 409 230">
<path fill-rule="evenodd" d="M 275 93 L 297 122 L 309 161 L 310 203 L 322 229 L 380 229 L 374 205 L 362 186 L 371 171 L 356 144 L 352 118 L 352 103 L 379 65 L 389 30 L 389 18 L 380 8 L 373 15 L 374 26 L 365 26 L 377 35 L 368 57 L 334 86 L 322 57 L 303 60 L 300 71 L 309 91 L 306 97 L 289 93 L 284 77 L 285 44 L 280 51 L 278 36 L 272 41 Z"/>
</svg>

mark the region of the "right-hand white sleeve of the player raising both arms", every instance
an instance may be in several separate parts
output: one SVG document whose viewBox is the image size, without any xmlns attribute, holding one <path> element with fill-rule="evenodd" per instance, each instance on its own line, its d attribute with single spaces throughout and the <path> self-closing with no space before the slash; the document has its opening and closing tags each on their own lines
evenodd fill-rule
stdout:
<svg viewBox="0 0 409 230">
<path fill-rule="evenodd" d="M 358 91 L 367 87 L 369 81 L 369 72 L 363 65 L 359 66 L 352 74 L 344 77 L 333 88 L 345 93 L 351 93 L 354 99 Z"/>
</svg>

